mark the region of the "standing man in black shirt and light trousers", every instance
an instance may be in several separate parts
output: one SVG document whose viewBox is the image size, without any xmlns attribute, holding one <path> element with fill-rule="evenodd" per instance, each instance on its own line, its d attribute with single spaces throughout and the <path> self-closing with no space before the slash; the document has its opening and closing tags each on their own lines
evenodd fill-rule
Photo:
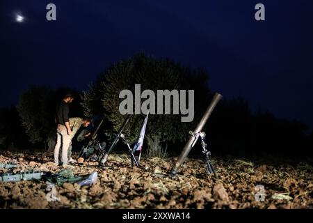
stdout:
<svg viewBox="0 0 313 223">
<path fill-rule="evenodd" d="M 58 128 L 56 130 L 56 147 L 54 148 L 54 162 L 58 165 L 58 154 L 60 153 L 60 148 L 62 148 L 62 164 L 63 167 L 67 165 L 67 150 L 71 142 L 72 130 L 70 128 L 70 118 L 69 118 L 69 106 L 74 100 L 71 93 L 67 93 L 63 100 L 56 107 L 56 124 Z"/>
</svg>

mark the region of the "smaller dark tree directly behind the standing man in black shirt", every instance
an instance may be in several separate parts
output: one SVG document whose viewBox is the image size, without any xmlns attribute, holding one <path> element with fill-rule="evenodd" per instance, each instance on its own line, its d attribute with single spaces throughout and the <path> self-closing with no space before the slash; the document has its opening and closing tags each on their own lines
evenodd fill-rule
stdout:
<svg viewBox="0 0 313 223">
<path fill-rule="evenodd" d="M 49 150 L 54 148 L 56 103 L 62 100 L 67 91 L 76 95 L 74 104 L 70 105 L 70 116 L 82 116 L 79 93 L 72 89 L 61 87 L 54 90 L 46 86 L 32 86 L 20 96 L 17 110 L 22 127 L 32 144 L 43 143 Z"/>
</svg>

